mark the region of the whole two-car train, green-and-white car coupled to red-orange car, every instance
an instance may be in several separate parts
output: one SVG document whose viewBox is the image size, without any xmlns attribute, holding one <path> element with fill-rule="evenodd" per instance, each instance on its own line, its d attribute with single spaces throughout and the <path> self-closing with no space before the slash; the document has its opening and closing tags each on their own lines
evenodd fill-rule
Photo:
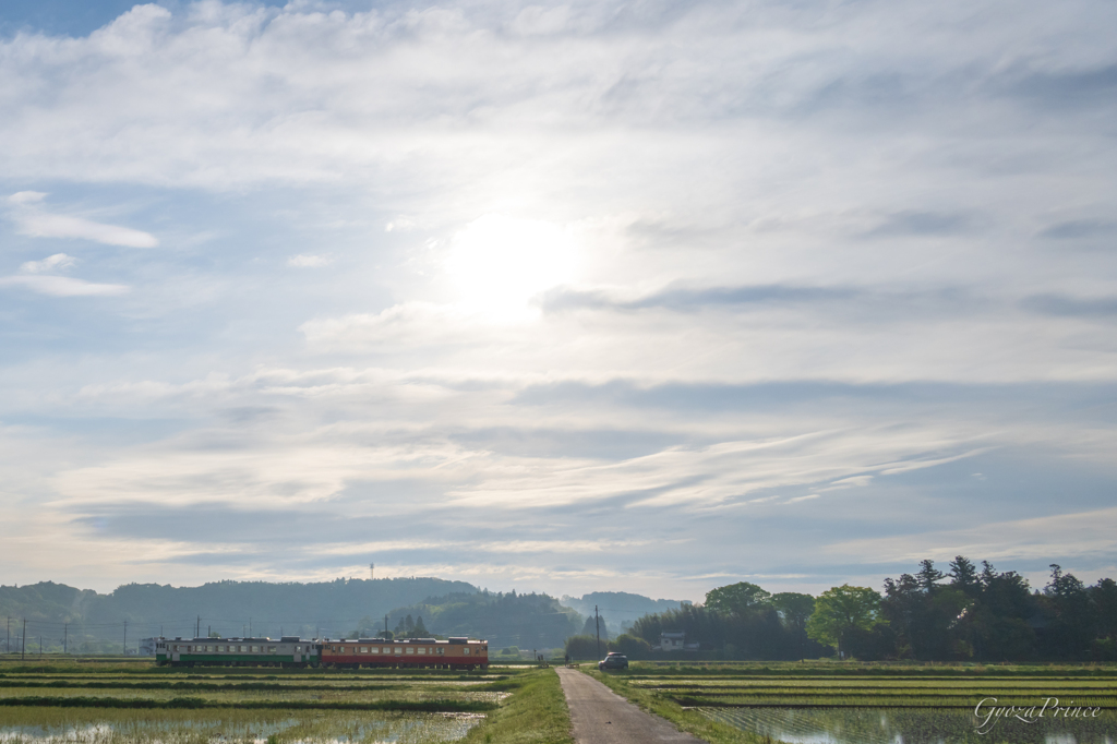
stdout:
<svg viewBox="0 0 1117 744">
<path fill-rule="evenodd" d="M 488 669 L 488 641 L 470 638 L 156 638 L 155 662 L 193 667 Z"/>
</svg>

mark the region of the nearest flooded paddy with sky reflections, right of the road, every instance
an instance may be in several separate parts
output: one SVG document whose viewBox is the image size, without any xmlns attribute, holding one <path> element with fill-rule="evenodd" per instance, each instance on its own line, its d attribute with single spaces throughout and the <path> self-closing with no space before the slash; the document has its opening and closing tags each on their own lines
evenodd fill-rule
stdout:
<svg viewBox="0 0 1117 744">
<path fill-rule="evenodd" d="M 1117 713 L 1034 723 L 1000 721 L 987 734 L 966 709 L 698 708 L 714 721 L 789 744 L 1114 744 Z"/>
</svg>

